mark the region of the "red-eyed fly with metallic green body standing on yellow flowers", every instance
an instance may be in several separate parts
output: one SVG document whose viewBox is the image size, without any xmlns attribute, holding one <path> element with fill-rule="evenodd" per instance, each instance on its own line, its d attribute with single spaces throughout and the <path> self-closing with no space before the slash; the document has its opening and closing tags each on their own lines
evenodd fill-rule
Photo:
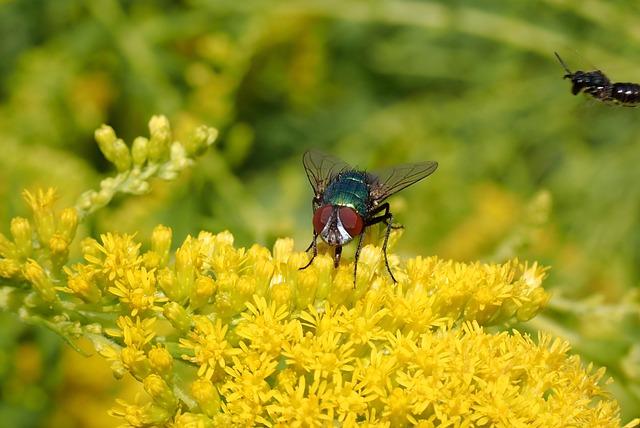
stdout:
<svg viewBox="0 0 640 428">
<path fill-rule="evenodd" d="M 388 166 L 373 171 L 358 171 L 346 162 L 319 150 L 309 150 L 302 157 L 304 169 L 313 187 L 313 248 L 311 265 L 318 255 L 318 236 L 335 248 L 334 266 L 340 263 L 342 246 L 360 236 L 353 269 L 354 282 L 358 269 L 358 257 L 365 228 L 384 223 L 387 232 L 382 244 L 384 263 L 393 282 L 397 282 L 387 260 L 387 242 L 391 232 L 393 215 L 389 204 L 382 203 L 389 196 L 431 175 L 437 162 L 420 162 Z"/>
</svg>

